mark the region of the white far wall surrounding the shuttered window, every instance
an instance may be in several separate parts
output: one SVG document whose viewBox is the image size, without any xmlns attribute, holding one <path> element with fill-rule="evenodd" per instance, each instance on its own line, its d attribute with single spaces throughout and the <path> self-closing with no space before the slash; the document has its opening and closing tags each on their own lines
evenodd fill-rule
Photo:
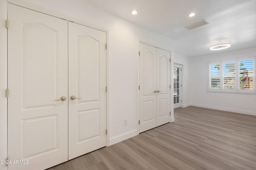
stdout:
<svg viewBox="0 0 256 170">
<path fill-rule="evenodd" d="M 209 61 L 255 57 L 256 47 L 215 55 L 194 57 L 190 60 L 190 97 L 192 106 L 256 115 L 255 94 L 229 94 L 207 91 Z"/>
</svg>

